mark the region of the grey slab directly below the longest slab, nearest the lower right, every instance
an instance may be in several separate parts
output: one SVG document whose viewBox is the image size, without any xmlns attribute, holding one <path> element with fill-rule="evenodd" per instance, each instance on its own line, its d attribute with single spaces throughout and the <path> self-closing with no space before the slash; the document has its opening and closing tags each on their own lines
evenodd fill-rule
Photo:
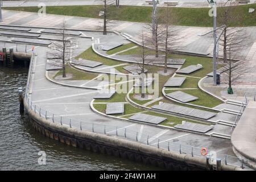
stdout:
<svg viewBox="0 0 256 182">
<path fill-rule="evenodd" d="M 199 133 L 207 133 L 209 130 L 212 130 L 214 126 L 210 125 L 201 125 L 198 123 L 185 122 L 184 124 L 178 124 L 174 126 L 176 129 L 183 129 L 189 131 L 196 131 Z"/>
</svg>

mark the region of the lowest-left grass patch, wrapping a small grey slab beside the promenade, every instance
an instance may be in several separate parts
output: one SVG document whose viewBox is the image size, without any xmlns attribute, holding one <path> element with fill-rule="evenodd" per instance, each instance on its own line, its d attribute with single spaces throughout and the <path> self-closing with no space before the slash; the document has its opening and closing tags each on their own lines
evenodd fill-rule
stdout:
<svg viewBox="0 0 256 182">
<path fill-rule="evenodd" d="M 100 111 L 101 113 L 106 113 L 106 104 L 93 104 L 94 108 L 98 111 Z M 144 110 L 139 109 L 137 107 L 134 107 L 130 104 L 125 104 L 125 113 L 123 114 L 112 114 L 113 116 L 121 116 L 121 115 L 126 115 L 126 114 L 135 114 L 135 113 L 139 113 L 142 112 Z"/>
</svg>

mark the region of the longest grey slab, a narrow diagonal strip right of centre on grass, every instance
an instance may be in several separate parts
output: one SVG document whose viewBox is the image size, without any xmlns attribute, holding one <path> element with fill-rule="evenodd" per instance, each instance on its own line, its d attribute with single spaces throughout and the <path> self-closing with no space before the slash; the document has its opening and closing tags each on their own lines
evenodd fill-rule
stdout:
<svg viewBox="0 0 256 182">
<path fill-rule="evenodd" d="M 161 105 L 154 105 L 151 108 L 157 109 L 157 110 L 162 110 L 162 111 L 167 111 L 167 112 L 175 113 L 175 114 L 182 114 L 182 115 L 186 115 L 189 117 L 205 119 L 205 120 L 210 119 L 210 118 L 214 117 L 214 115 L 217 114 L 217 113 L 213 113 L 210 111 L 193 109 L 191 107 L 184 107 L 184 106 L 179 106 L 179 105 L 169 104 L 169 103 L 163 103 Z"/>
</svg>

